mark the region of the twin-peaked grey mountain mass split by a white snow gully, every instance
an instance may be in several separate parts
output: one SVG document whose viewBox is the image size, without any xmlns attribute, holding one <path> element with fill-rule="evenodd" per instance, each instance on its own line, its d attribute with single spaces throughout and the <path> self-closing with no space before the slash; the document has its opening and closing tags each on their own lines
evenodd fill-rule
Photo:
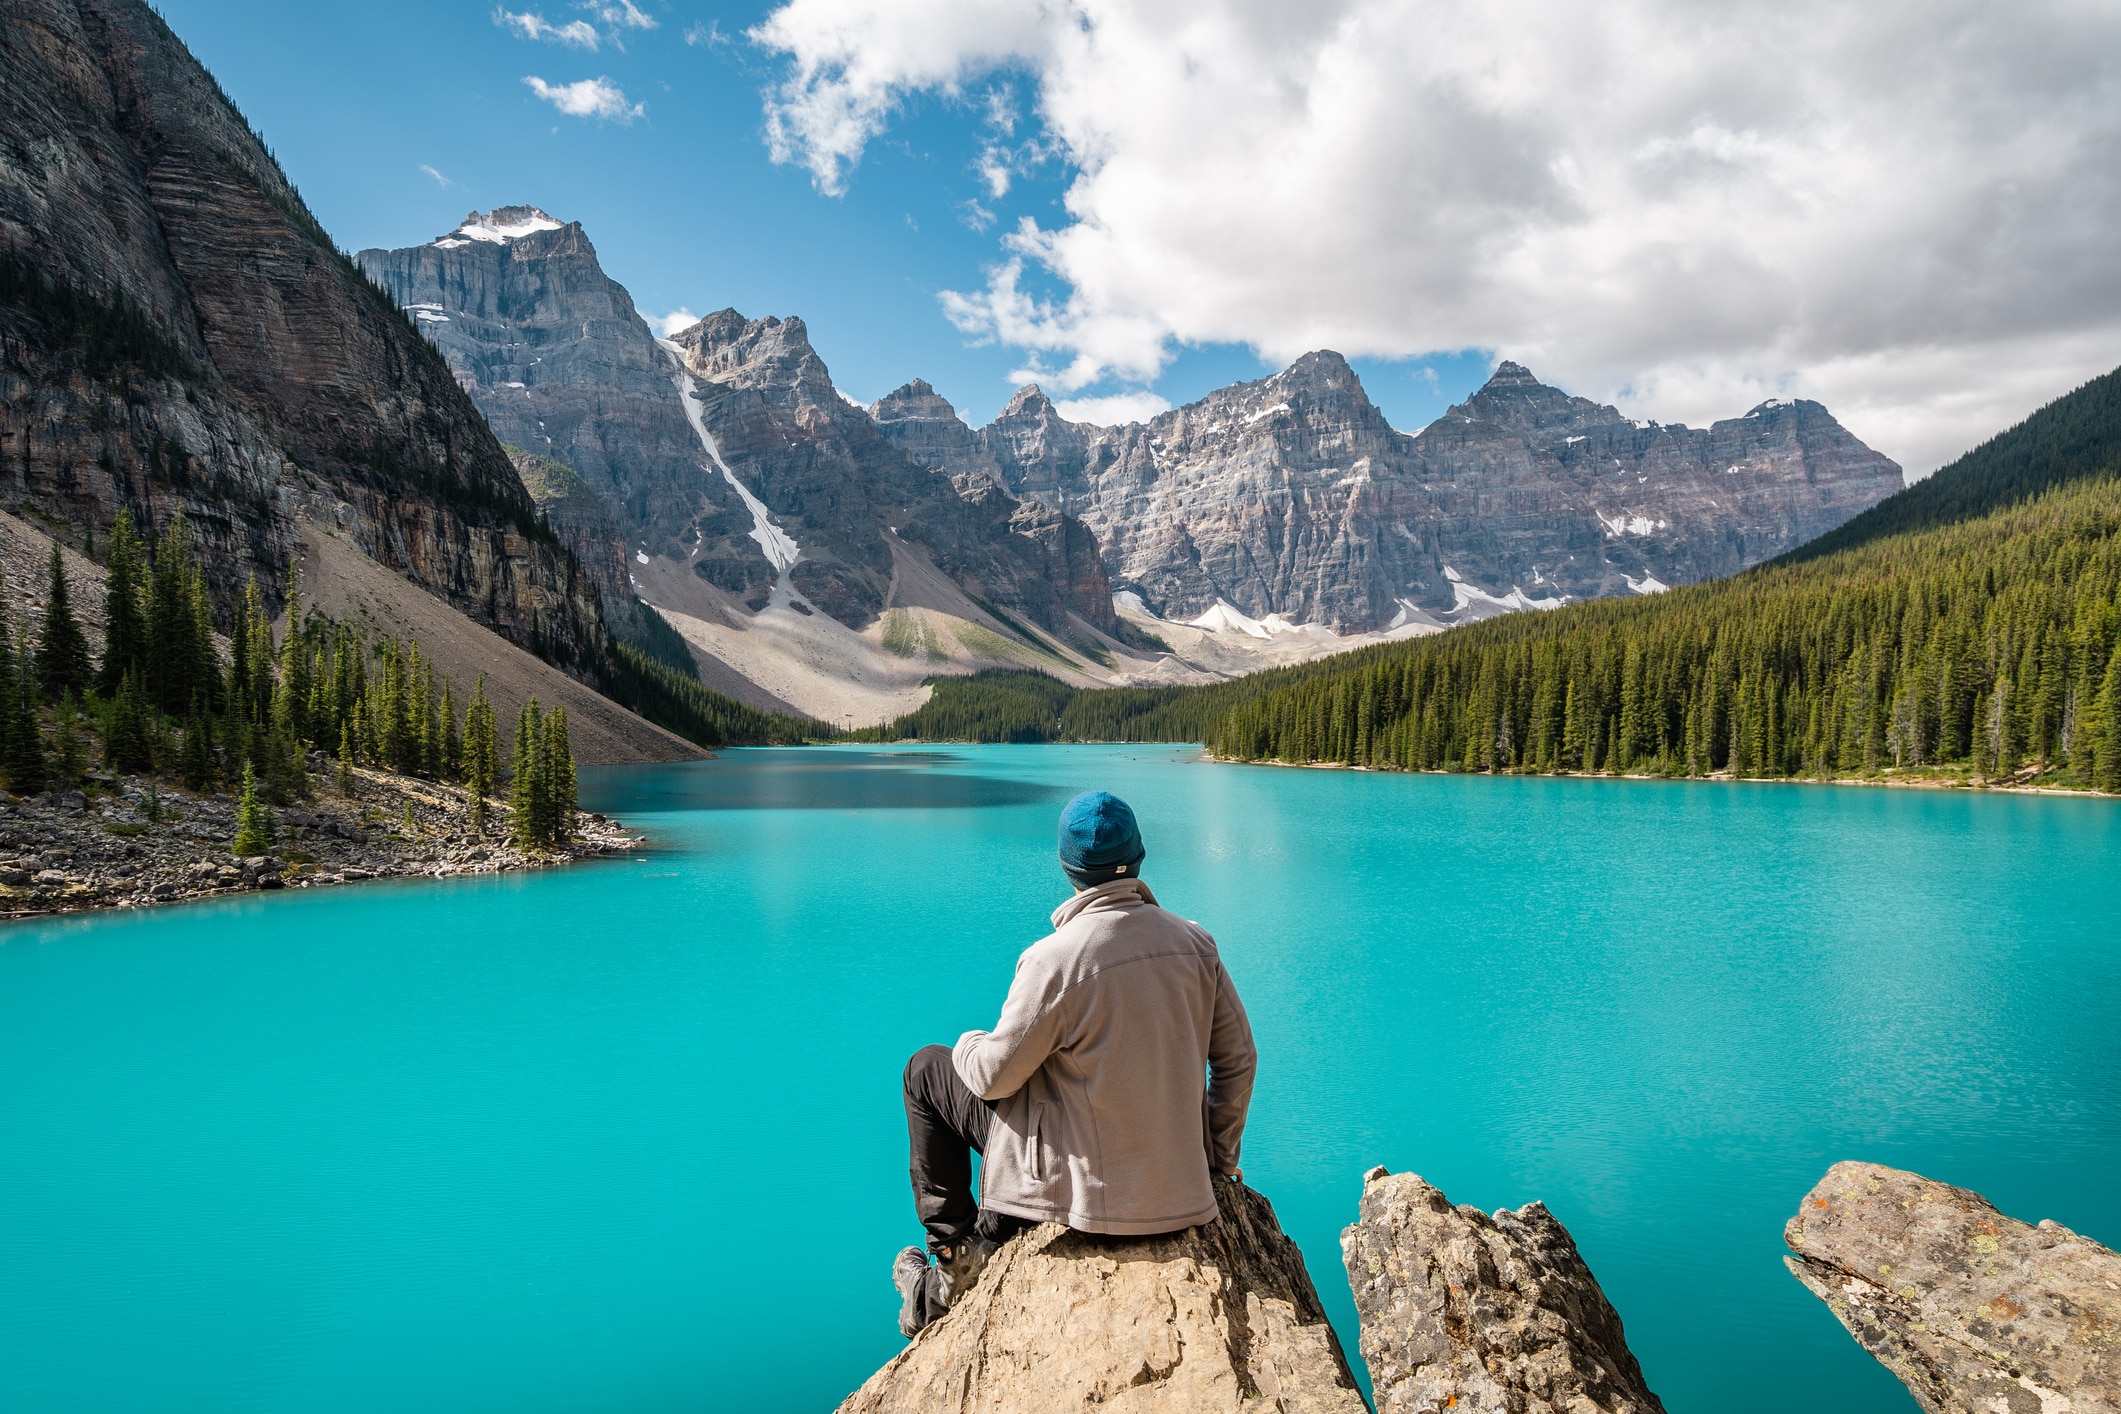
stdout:
<svg viewBox="0 0 2121 1414">
<path fill-rule="evenodd" d="M 534 206 L 358 261 L 509 443 L 573 466 L 636 553 L 683 562 L 732 611 L 766 611 L 785 583 L 859 630 L 887 608 L 899 541 L 1039 625 L 1118 628 L 1080 524 L 908 458 L 831 386 L 800 318 L 723 310 L 658 339 L 581 225 Z"/>
</svg>

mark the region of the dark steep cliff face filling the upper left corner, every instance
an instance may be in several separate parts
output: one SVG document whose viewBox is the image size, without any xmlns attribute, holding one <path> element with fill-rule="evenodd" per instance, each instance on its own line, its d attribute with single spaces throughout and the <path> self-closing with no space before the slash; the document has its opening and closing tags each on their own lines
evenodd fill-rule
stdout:
<svg viewBox="0 0 2121 1414">
<path fill-rule="evenodd" d="M 339 254 L 138 0 L 0 25 L 0 473 L 98 536 L 185 513 L 227 606 L 284 587 L 295 522 L 346 534 L 562 664 L 596 594 L 448 365 Z"/>
</svg>

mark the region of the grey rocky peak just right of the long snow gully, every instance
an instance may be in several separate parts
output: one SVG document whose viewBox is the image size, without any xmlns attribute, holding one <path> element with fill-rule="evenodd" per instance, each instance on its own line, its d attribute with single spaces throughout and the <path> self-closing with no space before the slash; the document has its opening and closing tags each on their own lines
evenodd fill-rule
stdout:
<svg viewBox="0 0 2121 1414">
<path fill-rule="evenodd" d="M 921 547 L 969 594 L 1056 632 L 1073 611 L 1114 630 L 1103 566 L 1065 517 L 1027 511 L 976 464 L 923 466 L 831 386 L 797 318 L 711 314 L 668 348 L 696 379 L 702 430 L 730 475 L 793 541 L 793 589 L 851 628 L 891 598 L 891 538 Z M 770 579 L 742 538 L 755 524 L 702 526 L 698 572 L 751 604 Z"/>
</svg>

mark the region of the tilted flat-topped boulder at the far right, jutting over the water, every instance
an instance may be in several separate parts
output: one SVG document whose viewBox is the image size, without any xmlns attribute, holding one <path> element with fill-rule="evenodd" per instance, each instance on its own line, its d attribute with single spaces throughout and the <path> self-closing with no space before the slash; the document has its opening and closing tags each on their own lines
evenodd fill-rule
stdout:
<svg viewBox="0 0 2121 1414">
<path fill-rule="evenodd" d="M 1782 1236 L 1796 1280 L 1930 1414 L 2121 1410 L 2121 1255 L 2091 1238 L 1852 1162 Z"/>
</svg>

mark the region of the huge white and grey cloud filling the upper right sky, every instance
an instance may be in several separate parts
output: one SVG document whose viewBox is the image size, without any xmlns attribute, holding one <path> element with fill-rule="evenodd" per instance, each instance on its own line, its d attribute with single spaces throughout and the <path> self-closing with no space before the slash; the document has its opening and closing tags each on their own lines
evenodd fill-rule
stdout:
<svg viewBox="0 0 2121 1414">
<path fill-rule="evenodd" d="M 1063 390 L 1485 348 L 1661 420 L 1816 396 L 1922 473 L 2121 363 L 2115 6 L 789 0 L 751 38 L 823 193 L 910 95 L 1022 85 L 1065 214 L 944 314 Z"/>
</svg>

